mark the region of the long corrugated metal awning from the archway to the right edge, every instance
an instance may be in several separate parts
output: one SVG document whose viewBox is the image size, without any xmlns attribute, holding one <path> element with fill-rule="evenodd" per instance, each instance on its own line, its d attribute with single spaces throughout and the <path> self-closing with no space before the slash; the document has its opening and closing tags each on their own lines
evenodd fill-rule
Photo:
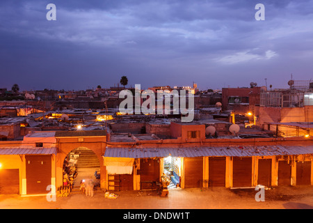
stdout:
<svg viewBox="0 0 313 223">
<path fill-rule="evenodd" d="M 313 154 L 313 146 L 225 146 L 188 148 L 111 148 L 107 147 L 105 157 L 203 157 L 203 156 L 266 156 Z"/>
</svg>

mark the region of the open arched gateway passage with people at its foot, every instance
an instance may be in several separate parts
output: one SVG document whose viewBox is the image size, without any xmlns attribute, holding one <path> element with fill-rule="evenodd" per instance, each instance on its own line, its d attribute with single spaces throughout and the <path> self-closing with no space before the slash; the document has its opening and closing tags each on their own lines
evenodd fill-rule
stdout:
<svg viewBox="0 0 313 223">
<path fill-rule="evenodd" d="M 79 188 L 83 180 L 90 178 L 96 189 L 100 187 L 100 162 L 97 155 L 85 147 L 68 153 L 63 162 L 63 185 Z"/>
</svg>

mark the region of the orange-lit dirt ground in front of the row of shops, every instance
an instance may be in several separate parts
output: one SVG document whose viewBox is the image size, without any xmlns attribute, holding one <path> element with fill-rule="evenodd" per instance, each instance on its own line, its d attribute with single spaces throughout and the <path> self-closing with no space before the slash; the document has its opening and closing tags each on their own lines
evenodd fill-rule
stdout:
<svg viewBox="0 0 313 223">
<path fill-rule="evenodd" d="M 255 189 L 172 189 L 168 197 L 150 191 L 122 191 L 116 199 L 95 190 L 94 197 L 70 194 L 47 201 L 46 196 L 0 195 L 0 209 L 312 209 L 313 186 L 264 190 L 265 201 L 256 201 Z"/>
</svg>

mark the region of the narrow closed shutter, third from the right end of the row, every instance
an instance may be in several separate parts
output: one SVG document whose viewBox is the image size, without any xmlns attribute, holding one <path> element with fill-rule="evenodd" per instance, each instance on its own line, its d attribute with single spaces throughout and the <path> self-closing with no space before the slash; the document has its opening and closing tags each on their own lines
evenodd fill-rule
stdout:
<svg viewBox="0 0 313 223">
<path fill-rule="evenodd" d="M 272 181 L 271 175 L 272 175 L 272 160 L 271 159 L 259 160 L 257 184 L 270 187 Z"/>
</svg>

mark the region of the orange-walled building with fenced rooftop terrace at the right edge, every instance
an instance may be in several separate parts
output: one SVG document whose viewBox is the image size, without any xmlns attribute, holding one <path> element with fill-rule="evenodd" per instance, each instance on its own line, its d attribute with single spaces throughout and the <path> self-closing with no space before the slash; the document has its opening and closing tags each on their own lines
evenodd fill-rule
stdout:
<svg viewBox="0 0 313 223">
<path fill-rule="evenodd" d="M 293 85 L 291 89 L 264 91 L 258 116 L 259 125 L 284 137 L 305 135 L 313 122 L 313 93 L 310 88 L 301 91 Z"/>
</svg>

